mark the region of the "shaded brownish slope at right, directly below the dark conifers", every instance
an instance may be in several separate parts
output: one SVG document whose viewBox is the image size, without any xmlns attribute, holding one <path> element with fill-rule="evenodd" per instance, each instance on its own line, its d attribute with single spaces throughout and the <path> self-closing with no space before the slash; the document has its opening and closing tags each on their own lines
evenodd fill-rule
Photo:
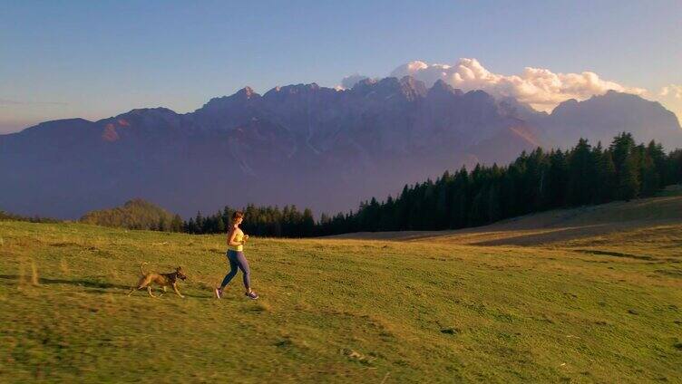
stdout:
<svg viewBox="0 0 682 384">
<path fill-rule="evenodd" d="M 656 226 L 682 225 L 682 187 L 662 197 L 616 201 L 513 217 L 489 226 L 449 231 L 362 232 L 327 238 L 428 241 L 457 245 L 554 245 Z"/>
</svg>

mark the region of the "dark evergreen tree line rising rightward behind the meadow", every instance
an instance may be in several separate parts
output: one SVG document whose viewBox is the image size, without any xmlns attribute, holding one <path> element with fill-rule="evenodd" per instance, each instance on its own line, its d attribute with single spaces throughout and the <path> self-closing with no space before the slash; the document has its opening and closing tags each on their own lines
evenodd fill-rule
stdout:
<svg viewBox="0 0 682 384">
<path fill-rule="evenodd" d="M 535 149 L 506 167 L 476 165 L 446 171 L 436 180 L 404 186 L 402 193 L 379 202 L 375 197 L 353 212 L 322 214 L 316 222 L 309 208 L 248 205 L 243 229 L 273 237 L 337 235 L 360 231 L 457 229 L 482 226 L 503 218 L 548 209 L 602 204 L 613 200 L 651 197 L 682 182 L 682 150 L 666 154 L 661 144 L 635 143 L 621 133 L 609 148 L 587 139 L 567 150 Z M 212 216 L 185 221 L 190 234 L 224 233 L 234 209 L 225 206 Z"/>
</svg>

